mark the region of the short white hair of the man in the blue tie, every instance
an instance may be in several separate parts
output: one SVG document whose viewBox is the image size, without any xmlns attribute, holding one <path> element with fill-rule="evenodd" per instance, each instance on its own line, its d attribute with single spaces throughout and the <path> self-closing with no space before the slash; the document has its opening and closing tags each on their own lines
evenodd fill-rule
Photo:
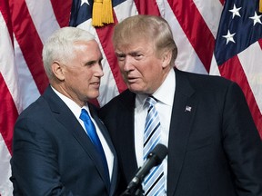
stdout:
<svg viewBox="0 0 262 196">
<path fill-rule="evenodd" d="M 50 79 L 53 77 L 51 65 L 57 61 L 65 64 L 70 58 L 74 58 L 74 43 L 77 41 L 95 40 L 95 36 L 76 27 L 63 27 L 55 31 L 46 40 L 42 52 L 45 73 Z"/>
</svg>

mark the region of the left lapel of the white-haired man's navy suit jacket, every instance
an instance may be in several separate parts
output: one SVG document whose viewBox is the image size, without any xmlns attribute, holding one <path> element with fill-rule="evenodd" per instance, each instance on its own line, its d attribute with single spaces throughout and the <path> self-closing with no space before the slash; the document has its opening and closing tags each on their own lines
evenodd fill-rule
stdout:
<svg viewBox="0 0 262 196">
<path fill-rule="evenodd" d="M 55 94 L 50 86 L 45 91 L 44 97 L 48 100 L 47 103 L 49 103 L 52 112 L 55 114 L 56 120 L 63 124 L 65 130 L 72 133 L 90 159 L 93 160 L 97 171 L 100 173 L 101 178 L 105 181 L 109 192 L 110 187 L 106 180 L 106 175 L 104 174 L 103 163 L 100 161 L 99 153 L 97 153 L 96 147 L 90 141 L 81 124 L 77 121 L 74 113 L 70 111 L 67 105 Z"/>
</svg>

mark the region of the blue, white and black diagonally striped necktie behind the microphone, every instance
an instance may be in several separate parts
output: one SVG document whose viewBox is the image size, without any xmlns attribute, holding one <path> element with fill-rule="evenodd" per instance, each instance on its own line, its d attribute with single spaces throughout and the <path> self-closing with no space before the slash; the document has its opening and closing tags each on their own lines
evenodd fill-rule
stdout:
<svg viewBox="0 0 262 196">
<path fill-rule="evenodd" d="M 160 142 L 161 125 L 158 113 L 156 111 L 156 99 L 152 96 L 146 98 L 146 107 L 148 113 L 146 116 L 145 132 L 144 132 L 144 162 L 149 152 L 151 152 L 157 143 Z M 143 182 L 144 195 L 157 196 L 165 195 L 165 179 L 163 164 L 154 167 L 146 176 Z"/>
</svg>

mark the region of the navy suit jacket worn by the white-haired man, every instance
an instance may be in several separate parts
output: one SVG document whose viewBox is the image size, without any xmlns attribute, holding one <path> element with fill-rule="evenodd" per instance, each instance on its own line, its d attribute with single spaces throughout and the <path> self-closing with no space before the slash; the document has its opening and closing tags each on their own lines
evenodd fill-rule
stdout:
<svg viewBox="0 0 262 196">
<path fill-rule="evenodd" d="M 111 185 L 95 146 L 49 86 L 15 123 L 10 178 L 14 195 L 114 195 L 116 152 L 95 107 L 89 108 L 115 156 Z"/>
</svg>

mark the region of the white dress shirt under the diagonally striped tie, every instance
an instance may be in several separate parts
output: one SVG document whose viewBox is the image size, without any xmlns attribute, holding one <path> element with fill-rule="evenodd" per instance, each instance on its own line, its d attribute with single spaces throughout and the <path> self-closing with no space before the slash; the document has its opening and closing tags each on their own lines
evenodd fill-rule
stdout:
<svg viewBox="0 0 262 196">
<path fill-rule="evenodd" d="M 168 135 L 171 121 L 171 113 L 176 89 L 175 71 L 171 69 L 166 76 L 166 80 L 152 95 L 156 98 L 156 111 L 159 114 L 161 123 L 161 143 L 168 146 Z M 138 167 L 142 166 L 143 161 L 143 137 L 146 123 L 147 108 L 144 106 L 147 94 L 136 94 L 135 106 L 135 146 L 136 162 Z M 167 156 L 163 161 L 164 176 L 167 177 Z M 167 179 L 166 179 L 167 180 Z"/>
</svg>

